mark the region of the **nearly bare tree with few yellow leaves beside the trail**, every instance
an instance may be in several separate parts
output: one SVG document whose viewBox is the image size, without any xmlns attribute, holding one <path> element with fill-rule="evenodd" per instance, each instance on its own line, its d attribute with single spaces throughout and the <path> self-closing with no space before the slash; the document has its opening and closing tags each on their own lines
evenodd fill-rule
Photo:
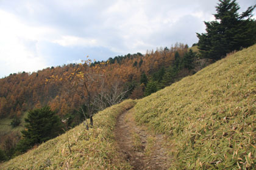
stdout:
<svg viewBox="0 0 256 170">
<path fill-rule="evenodd" d="M 50 80 L 63 82 L 66 93 L 80 95 L 85 101 L 86 110 L 80 107 L 86 118 L 90 118 L 93 126 L 93 113 L 108 106 L 120 103 L 126 97 L 129 88 L 124 88 L 121 80 L 105 81 L 104 66 L 99 64 L 90 67 L 91 60 L 82 61 L 73 72 L 66 72 L 62 78 L 51 76 Z M 101 67 L 102 66 L 102 67 Z M 87 117 L 88 116 L 88 117 Z M 89 127 L 87 120 L 87 129 Z"/>
</svg>

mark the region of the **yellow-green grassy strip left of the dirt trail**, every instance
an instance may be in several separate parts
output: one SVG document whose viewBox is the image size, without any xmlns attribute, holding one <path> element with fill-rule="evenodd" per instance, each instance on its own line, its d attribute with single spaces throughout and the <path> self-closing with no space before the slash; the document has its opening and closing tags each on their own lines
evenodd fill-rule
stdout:
<svg viewBox="0 0 256 170">
<path fill-rule="evenodd" d="M 94 116 L 94 127 L 89 131 L 80 124 L 2 163 L 0 169 L 130 169 L 116 154 L 112 131 L 118 115 L 134 105 L 135 101 L 127 100 L 108 107 Z"/>
</svg>

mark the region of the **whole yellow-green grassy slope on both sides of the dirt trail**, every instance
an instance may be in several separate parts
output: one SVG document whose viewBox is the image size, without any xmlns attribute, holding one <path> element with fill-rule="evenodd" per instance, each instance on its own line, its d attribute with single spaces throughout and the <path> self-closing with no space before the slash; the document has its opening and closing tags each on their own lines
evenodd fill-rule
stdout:
<svg viewBox="0 0 256 170">
<path fill-rule="evenodd" d="M 149 97 L 109 107 L 90 131 L 80 124 L 0 168 L 131 169 L 118 157 L 113 129 L 133 106 L 139 123 L 169 136 L 172 169 L 254 169 L 256 45 Z"/>
</svg>

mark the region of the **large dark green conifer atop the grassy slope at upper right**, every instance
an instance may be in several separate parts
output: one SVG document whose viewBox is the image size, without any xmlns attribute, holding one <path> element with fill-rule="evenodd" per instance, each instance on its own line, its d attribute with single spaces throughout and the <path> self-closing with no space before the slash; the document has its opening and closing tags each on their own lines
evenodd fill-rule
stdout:
<svg viewBox="0 0 256 170">
<path fill-rule="evenodd" d="M 219 60 L 233 50 L 249 47 L 256 42 L 256 22 L 249 7 L 238 13 L 240 6 L 235 0 L 219 0 L 215 21 L 204 22 L 206 33 L 199 34 L 198 47 L 204 58 Z"/>
</svg>

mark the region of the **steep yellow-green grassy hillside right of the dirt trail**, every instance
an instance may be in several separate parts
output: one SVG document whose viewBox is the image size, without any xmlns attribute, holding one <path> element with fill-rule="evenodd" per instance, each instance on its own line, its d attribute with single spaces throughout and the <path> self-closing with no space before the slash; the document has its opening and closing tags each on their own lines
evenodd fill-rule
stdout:
<svg viewBox="0 0 256 170">
<path fill-rule="evenodd" d="M 138 101 L 136 119 L 170 136 L 177 169 L 256 169 L 256 45 Z"/>
</svg>

